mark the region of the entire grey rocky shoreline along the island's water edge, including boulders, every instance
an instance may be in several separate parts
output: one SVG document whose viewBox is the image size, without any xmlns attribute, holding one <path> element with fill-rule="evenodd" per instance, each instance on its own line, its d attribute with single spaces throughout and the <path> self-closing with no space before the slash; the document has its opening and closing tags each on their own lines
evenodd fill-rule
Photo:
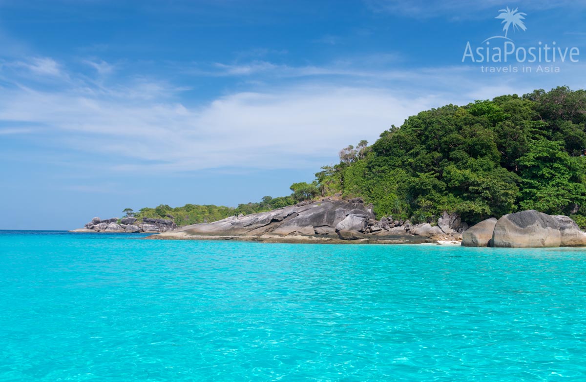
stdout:
<svg viewBox="0 0 586 382">
<path fill-rule="evenodd" d="M 490 218 L 469 227 L 458 214 L 413 224 L 384 216 L 377 220 L 362 199 L 325 198 L 257 214 L 230 216 L 178 228 L 172 220 L 93 218 L 70 232 L 159 233 L 148 239 L 244 240 L 280 243 L 452 243 L 468 247 L 578 247 L 586 233 L 568 216 L 529 210 Z"/>
</svg>

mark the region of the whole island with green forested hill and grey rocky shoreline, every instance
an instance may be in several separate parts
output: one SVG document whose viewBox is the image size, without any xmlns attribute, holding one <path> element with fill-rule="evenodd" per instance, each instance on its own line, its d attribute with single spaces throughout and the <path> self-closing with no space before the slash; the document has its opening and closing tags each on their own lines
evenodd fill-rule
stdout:
<svg viewBox="0 0 586 382">
<path fill-rule="evenodd" d="M 152 239 L 584 245 L 586 92 L 557 87 L 446 105 L 339 152 L 291 194 L 236 208 L 142 208 L 83 232 Z M 125 210 L 126 211 L 126 210 Z M 130 210 L 131 211 L 131 210 Z M 76 230 L 79 231 L 79 230 Z"/>
</svg>

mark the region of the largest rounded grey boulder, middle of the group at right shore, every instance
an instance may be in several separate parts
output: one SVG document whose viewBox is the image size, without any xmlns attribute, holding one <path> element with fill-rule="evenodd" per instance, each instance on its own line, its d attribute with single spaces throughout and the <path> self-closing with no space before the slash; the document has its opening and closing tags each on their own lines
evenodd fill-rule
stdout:
<svg viewBox="0 0 586 382">
<path fill-rule="evenodd" d="M 534 209 L 502 216 L 492 234 L 492 245 L 495 247 L 559 247 L 560 243 L 557 220 Z"/>
</svg>

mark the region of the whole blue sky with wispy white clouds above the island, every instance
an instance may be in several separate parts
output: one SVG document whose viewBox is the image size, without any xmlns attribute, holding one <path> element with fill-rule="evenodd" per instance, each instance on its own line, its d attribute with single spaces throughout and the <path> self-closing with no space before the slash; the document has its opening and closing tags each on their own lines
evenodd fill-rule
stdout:
<svg viewBox="0 0 586 382">
<path fill-rule="evenodd" d="M 515 47 L 578 60 L 462 62 L 507 7 L 525 13 Z M 287 195 L 420 111 L 586 88 L 585 16 L 576 0 L 0 0 L 0 229 Z"/>
</svg>

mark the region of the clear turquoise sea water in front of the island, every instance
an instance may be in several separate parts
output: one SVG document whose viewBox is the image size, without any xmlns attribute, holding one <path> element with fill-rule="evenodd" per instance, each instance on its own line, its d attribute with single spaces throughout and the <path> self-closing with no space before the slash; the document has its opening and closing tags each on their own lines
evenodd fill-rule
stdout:
<svg viewBox="0 0 586 382">
<path fill-rule="evenodd" d="M 586 381 L 586 251 L 0 232 L 0 381 Z"/>
</svg>

